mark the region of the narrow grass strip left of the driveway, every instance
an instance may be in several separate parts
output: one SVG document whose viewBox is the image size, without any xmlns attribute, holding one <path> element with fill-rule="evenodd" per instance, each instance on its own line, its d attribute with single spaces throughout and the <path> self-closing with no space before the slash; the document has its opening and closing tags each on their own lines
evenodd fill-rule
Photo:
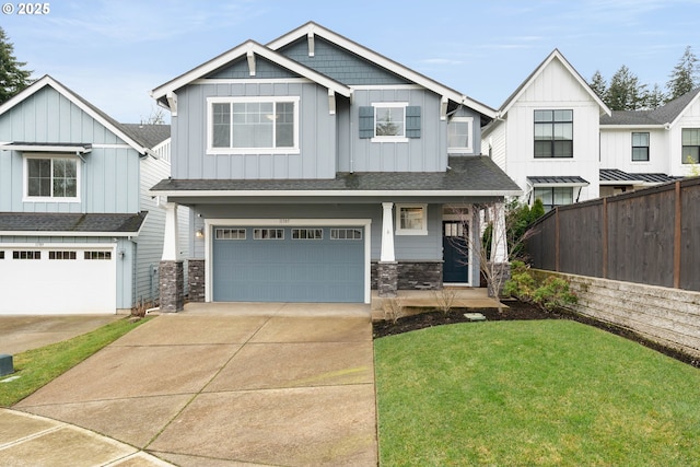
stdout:
<svg viewBox="0 0 700 467">
<path fill-rule="evenodd" d="M 10 407 L 148 319 L 119 319 L 62 342 L 13 355 L 14 373 L 0 378 L 0 407 Z M 10 376 L 20 376 L 2 382 Z"/>
</svg>

